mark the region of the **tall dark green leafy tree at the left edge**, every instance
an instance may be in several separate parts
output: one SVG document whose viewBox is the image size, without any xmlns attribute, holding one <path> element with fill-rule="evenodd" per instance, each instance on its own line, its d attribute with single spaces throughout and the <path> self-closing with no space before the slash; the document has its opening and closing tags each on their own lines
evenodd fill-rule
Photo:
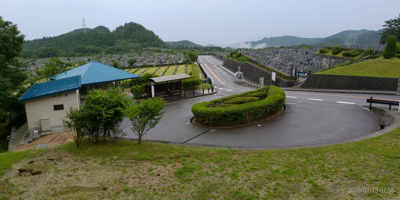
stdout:
<svg viewBox="0 0 400 200">
<path fill-rule="evenodd" d="M 24 38 L 15 24 L 0 16 L 0 120 L 6 113 L 25 112 L 24 104 L 17 102 L 25 91 L 21 83 L 28 78 L 26 64 L 17 58 L 22 55 Z"/>
</svg>

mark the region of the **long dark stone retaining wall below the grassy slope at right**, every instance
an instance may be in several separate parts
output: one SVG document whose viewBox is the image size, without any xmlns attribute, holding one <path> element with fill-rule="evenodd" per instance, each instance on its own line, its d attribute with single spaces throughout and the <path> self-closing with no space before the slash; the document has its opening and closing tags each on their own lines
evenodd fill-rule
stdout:
<svg viewBox="0 0 400 200">
<path fill-rule="evenodd" d="M 398 78 L 310 74 L 301 88 L 396 91 Z"/>
</svg>

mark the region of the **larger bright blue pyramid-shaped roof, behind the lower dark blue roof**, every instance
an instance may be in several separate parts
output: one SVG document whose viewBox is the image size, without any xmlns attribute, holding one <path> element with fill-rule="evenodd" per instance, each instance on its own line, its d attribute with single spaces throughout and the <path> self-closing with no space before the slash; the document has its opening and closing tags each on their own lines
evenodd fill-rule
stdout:
<svg viewBox="0 0 400 200">
<path fill-rule="evenodd" d="M 57 74 L 56 76 L 52 76 L 50 77 L 50 79 L 58 80 L 78 75 L 81 76 L 82 85 L 113 82 L 141 77 L 139 75 L 132 74 L 124 70 L 114 68 L 112 66 L 92 61 L 79 67 L 73 68 L 72 70 L 68 70 L 66 72 L 62 72 L 61 74 Z"/>
</svg>

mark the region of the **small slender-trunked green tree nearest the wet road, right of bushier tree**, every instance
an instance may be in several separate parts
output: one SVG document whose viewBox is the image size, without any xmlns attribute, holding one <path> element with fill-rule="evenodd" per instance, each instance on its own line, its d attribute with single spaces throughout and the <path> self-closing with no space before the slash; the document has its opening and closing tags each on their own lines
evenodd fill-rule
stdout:
<svg viewBox="0 0 400 200">
<path fill-rule="evenodd" d="M 129 117 L 132 127 L 130 128 L 138 136 L 139 144 L 142 144 L 142 137 L 146 132 L 154 128 L 160 121 L 165 111 L 161 111 L 166 102 L 164 98 L 154 97 L 143 100 L 139 105 L 130 104 L 126 109 L 126 116 Z"/>
</svg>

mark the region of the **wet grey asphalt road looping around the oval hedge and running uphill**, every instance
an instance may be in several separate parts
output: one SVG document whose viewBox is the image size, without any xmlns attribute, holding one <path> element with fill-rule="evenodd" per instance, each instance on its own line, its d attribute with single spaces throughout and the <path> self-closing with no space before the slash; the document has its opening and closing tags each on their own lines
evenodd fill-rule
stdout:
<svg viewBox="0 0 400 200">
<path fill-rule="evenodd" d="M 193 104 L 254 90 L 234 84 L 233 72 L 220 67 L 222 62 L 214 56 L 199 58 L 205 63 L 205 70 L 218 94 L 168 104 L 162 122 L 150 130 L 144 139 L 169 141 L 172 144 L 184 142 L 184 145 L 193 146 L 273 149 L 344 141 L 371 134 L 378 128 L 376 118 L 360 107 L 368 105 L 366 98 L 371 95 L 292 91 L 285 92 L 287 112 L 261 126 L 214 131 L 196 128 L 189 124 L 193 116 Z M 398 96 L 374 95 L 374 98 L 398 100 Z M 135 138 L 128 120 L 122 126 L 125 126 L 127 137 Z"/>
</svg>

